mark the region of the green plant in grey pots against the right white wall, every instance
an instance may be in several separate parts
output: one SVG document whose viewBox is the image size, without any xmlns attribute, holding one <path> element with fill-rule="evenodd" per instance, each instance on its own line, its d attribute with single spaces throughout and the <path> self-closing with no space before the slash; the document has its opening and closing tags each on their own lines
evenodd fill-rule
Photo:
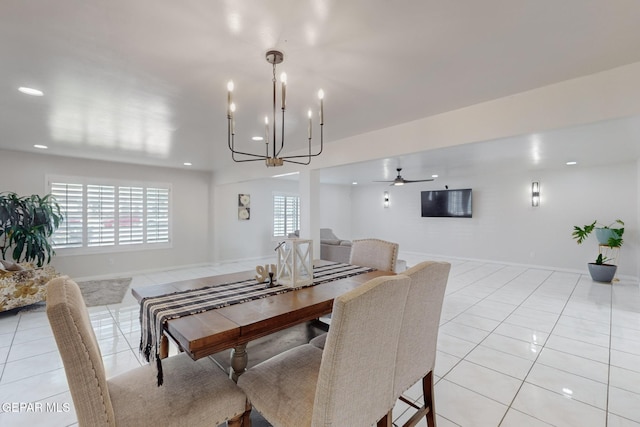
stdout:
<svg viewBox="0 0 640 427">
<path fill-rule="evenodd" d="M 617 227 L 614 228 L 614 225 L 617 224 Z M 606 246 L 609 248 L 620 248 L 622 243 L 622 235 L 624 234 L 624 222 L 622 220 L 617 219 L 615 222 L 609 225 L 602 225 L 598 227 L 598 222 L 593 221 L 591 224 L 587 224 L 583 227 L 574 226 L 573 233 L 571 236 L 576 239 L 578 244 L 582 244 L 584 240 L 589 237 L 589 235 L 595 230 L 596 238 L 600 243 L 600 246 Z M 606 282 L 611 283 L 613 277 L 616 274 L 616 270 L 618 266 L 615 264 L 609 264 L 608 261 L 611 261 L 611 258 L 607 258 L 602 254 L 602 252 L 598 253 L 598 257 L 595 262 L 590 262 L 588 264 L 589 274 L 591 274 L 591 278 L 596 282 Z"/>
</svg>

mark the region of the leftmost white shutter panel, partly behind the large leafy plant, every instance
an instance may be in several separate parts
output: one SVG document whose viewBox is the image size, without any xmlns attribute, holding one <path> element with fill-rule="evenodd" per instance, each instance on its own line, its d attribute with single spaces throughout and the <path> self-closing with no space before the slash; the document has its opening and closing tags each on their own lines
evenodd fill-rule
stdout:
<svg viewBox="0 0 640 427">
<path fill-rule="evenodd" d="M 64 219 L 51 240 L 56 248 L 78 248 L 83 242 L 83 185 L 51 183 L 51 194 L 60 206 Z"/>
</svg>

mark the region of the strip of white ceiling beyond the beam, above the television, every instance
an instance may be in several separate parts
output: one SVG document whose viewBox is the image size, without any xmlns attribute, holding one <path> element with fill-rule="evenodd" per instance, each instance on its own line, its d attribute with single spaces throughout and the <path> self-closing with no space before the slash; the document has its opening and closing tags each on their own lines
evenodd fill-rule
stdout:
<svg viewBox="0 0 640 427">
<path fill-rule="evenodd" d="M 323 183 L 359 185 L 393 180 L 398 167 L 404 179 L 438 175 L 436 181 L 443 185 L 454 177 L 496 172 L 530 171 L 536 176 L 542 171 L 573 167 L 567 162 L 590 167 L 640 159 L 638 141 L 640 117 L 628 117 L 336 166 L 320 173 Z"/>
</svg>

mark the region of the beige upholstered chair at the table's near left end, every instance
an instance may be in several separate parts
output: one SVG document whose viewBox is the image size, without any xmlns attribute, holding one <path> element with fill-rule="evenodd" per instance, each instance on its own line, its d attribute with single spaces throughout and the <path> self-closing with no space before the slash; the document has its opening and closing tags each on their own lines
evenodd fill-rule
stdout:
<svg viewBox="0 0 640 427">
<path fill-rule="evenodd" d="M 80 426 L 240 425 L 244 393 L 209 358 L 181 354 L 162 361 L 164 385 L 146 365 L 107 380 L 78 285 L 47 285 L 47 316 L 58 344 Z"/>
</svg>

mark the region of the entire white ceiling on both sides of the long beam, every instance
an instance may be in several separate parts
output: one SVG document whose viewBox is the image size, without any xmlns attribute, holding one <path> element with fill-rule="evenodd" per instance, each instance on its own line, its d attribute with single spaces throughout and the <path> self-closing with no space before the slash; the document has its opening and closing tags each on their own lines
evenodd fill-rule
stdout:
<svg viewBox="0 0 640 427">
<path fill-rule="evenodd" d="M 264 132 L 268 49 L 285 54 L 278 73 L 288 74 L 286 147 L 295 149 L 319 88 L 330 144 L 638 62 L 638 22 L 633 0 L 3 0 L 0 149 L 43 144 L 52 155 L 216 170 L 231 163 L 228 80 L 237 144 L 251 149 Z M 322 179 L 393 179 L 398 166 L 406 179 L 495 162 L 545 168 L 572 157 L 573 140 L 587 163 L 611 157 L 594 135 L 638 158 L 638 127 L 631 118 L 487 141 L 330 168 Z"/>
</svg>

